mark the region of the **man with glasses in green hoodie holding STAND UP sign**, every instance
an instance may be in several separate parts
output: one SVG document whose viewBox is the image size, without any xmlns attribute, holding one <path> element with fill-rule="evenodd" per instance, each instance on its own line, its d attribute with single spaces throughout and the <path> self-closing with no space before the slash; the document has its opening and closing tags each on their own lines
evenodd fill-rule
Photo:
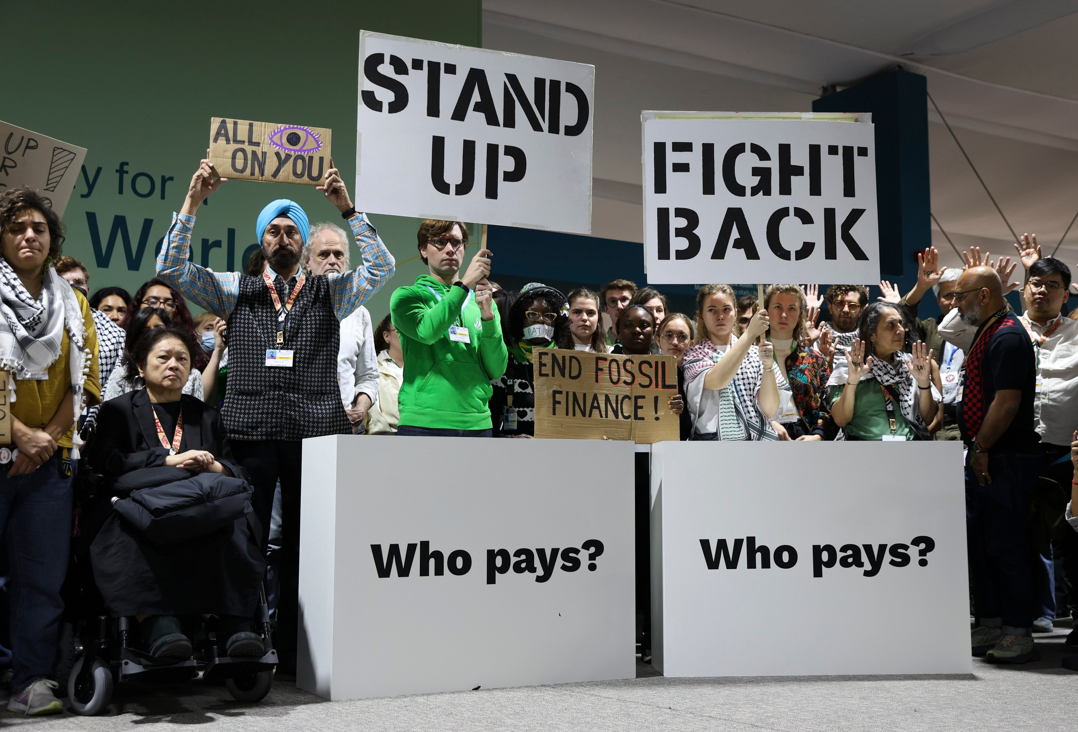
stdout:
<svg viewBox="0 0 1078 732">
<path fill-rule="evenodd" d="M 487 281 L 492 252 L 480 249 L 461 274 L 462 222 L 427 219 L 416 238 L 428 273 L 389 300 L 404 355 L 397 433 L 490 437 L 490 382 L 506 373 L 509 359 Z"/>
</svg>

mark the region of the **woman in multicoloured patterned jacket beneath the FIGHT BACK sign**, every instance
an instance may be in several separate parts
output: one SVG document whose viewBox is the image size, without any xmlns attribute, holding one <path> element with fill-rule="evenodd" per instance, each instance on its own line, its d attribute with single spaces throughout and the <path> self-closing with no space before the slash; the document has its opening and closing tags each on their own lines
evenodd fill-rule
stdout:
<svg viewBox="0 0 1078 732">
<path fill-rule="evenodd" d="M 806 346 L 804 291 L 797 285 L 772 285 L 763 296 L 771 327 L 768 340 L 778 367 L 778 414 L 772 427 L 779 440 L 824 440 L 833 424 L 827 406 L 827 359 Z M 833 430 L 832 430 L 833 431 Z"/>
</svg>

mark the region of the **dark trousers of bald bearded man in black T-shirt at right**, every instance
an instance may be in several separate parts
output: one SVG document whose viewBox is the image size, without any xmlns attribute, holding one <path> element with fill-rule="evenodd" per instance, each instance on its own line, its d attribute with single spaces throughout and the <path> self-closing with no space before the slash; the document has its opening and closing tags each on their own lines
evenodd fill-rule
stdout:
<svg viewBox="0 0 1078 732">
<path fill-rule="evenodd" d="M 966 539 L 973 609 L 978 618 L 1003 618 L 1006 629 L 1024 629 L 1025 633 L 1033 626 L 1036 605 L 1034 550 L 1026 521 L 1040 464 L 1039 454 L 990 455 L 992 482 L 985 485 L 966 468 Z"/>
</svg>

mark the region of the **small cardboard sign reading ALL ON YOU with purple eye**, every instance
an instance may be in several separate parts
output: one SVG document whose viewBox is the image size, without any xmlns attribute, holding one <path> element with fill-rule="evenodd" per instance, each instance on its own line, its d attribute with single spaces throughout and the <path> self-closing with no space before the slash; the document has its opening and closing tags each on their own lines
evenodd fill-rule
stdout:
<svg viewBox="0 0 1078 732">
<path fill-rule="evenodd" d="M 209 158 L 222 178 L 320 185 L 330 169 L 332 137 L 324 127 L 216 116 Z"/>
</svg>

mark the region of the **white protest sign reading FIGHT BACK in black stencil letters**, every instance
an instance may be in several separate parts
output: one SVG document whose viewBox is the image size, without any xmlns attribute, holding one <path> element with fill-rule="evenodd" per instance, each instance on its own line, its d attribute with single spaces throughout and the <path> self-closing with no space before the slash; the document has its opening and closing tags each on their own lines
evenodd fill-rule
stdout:
<svg viewBox="0 0 1078 732">
<path fill-rule="evenodd" d="M 648 281 L 879 281 L 870 118 L 645 112 Z"/>
</svg>

